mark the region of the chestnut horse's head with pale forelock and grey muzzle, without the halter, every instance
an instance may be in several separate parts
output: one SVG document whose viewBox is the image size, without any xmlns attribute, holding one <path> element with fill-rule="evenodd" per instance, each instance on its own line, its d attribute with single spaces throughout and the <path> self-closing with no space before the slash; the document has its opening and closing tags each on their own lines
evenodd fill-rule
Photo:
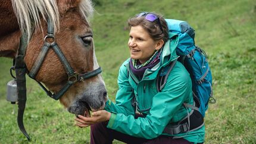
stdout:
<svg viewBox="0 0 256 144">
<path fill-rule="evenodd" d="M 0 45 L 0 56 L 14 58 L 21 32 L 28 30 L 31 39 L 24 61 L 27 70 L 32 70 L 43 46 L 43 37 L 47 33 L 48 25 L 46 19 L 49 18 L 55 27 L 55 42 L 76 73 L 88 73 L 99 67 L 95 57 L 93 33 L 88 23 L 88 17 L 92 15 L 93 11 L 89 0 L 13 0 L 12 2 L 14 12 L 11 8 L 8 9 L 11 7 L 10 2 L 6 1 L 2 5 L 0 4 L 1 10 L 9 11 L 5 11 L 5 15 L 1 13 L 2 17 L 0 17 L 0 43 L 2 44 Z M 29 31 L 32 24 L 36 26 L 35 32 Z M 2 29 L 2 27 L 7 28 Z M 35 79 L 45 84 L 54 93 L 60 91 L 67 83 L 67 71 L 51 48 L 49 48 Z M 107 91 L 101 74 L 74 83 L 60 98 L 61 104 L 76 115 L 84 115 L 88 109 L 102 109 L 106 101 Z"/>
</svg>

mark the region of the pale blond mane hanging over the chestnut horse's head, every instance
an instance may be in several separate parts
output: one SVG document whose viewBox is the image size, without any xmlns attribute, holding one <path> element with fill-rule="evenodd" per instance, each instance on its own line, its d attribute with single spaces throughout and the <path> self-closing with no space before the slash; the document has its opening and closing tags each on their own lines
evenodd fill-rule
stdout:
<svg viewBox="0 0 256 144">
<path fill-rule="evenodd" d="M 40 26 L 40 16 L 44 20 L 49 18 L 56 31 L 59 27 L 59 11 L 56 0 L 11 0 L 13 9 L 20 25 L 21 32 L 32 35 L 32 21 L 36 27 Z M 93 14 L 91 0 L 82 0 L 79 5 L 80 14 L 88 21 Z"/>
</svg>

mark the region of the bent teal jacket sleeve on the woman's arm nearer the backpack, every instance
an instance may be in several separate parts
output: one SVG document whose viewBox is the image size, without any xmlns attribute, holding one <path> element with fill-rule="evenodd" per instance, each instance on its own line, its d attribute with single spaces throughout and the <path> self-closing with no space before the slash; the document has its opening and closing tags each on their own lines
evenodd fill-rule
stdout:
<svg viewBox="0 0 256 144">
<path fill-rule="evenodd" d="M 191 95 L 192 84 L 188 72 L 173 68 L 164 89 L 153 97 L 152 107 L 145 118 L 135 119 L 132 115 L 111 113 L 107 127 L 131 136 L 153 139 L 162 134 L 185 99 Z"/>
</svg>

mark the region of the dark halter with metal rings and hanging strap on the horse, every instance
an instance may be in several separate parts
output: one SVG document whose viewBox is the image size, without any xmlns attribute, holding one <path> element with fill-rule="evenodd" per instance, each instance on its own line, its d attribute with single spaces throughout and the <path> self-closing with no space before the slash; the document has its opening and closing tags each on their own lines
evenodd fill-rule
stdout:
<svg viewBox="0 0 256 144">
<path fill-rule="evenodd" d="M 38 82 L 40 86 L 45 90 L 47 95 L 49 95 L 51 98 L 54 98 L 55 100 L 58 100 L 61 98 L 61 96 L 64 95 L 65 92 L 67 92 L 68 88 L 72 86 L 76 82 L 83 81 L 85 79 L 89 79 L 90 77 L 96 76 L 99 73 L 101 73 L 101 67 L 97 68 L 96 70 L 90 71 L 88 73 L 79 74 L 76 71 L 73 70 L 73 68 L 70 67 L 70 64 L 68 63 L 67 59 L 64 57 L 63 52 L 61 52 L 61 49 L 58 47 L 57 43 L 55 42 L 54 37 L 54 27 L 52 26 L 51 21 L 47 21 L 48 23 L 48 32 L 44 39 L 44 44 L 42 46 L 42 49 L 38 55 L 38 58 L 36 59 L 32 69 L 30 70 L 29 76 L 35 80 L 36 75 L 38 74 L 38 71 L 40 70 L 40 67 L 43 63 L 43 60 L 45 59 L 45 56 L 49 50 L 49 48 L 52 48 L 55 52 L 55 54 L 58 55 L 58 58 L 60 58 L 61 63 L 64 65 L 65 71 L 68 75 L 68 81 L 65 84 L 65 86 L 57 93 L 52 93 L 49 90 L 46 89 L 45 86 L 43 86 L 42 83 Z M 33 26 L 35 27 L 35 26 Z M 52 39 L 53 42 L 48 42 L 47 39 Z M 18 116 L 17 116 L 17 123 L 18 127 L 20 128 L 21 132 L 27 137 L 27 139 L 30 141 L 29 134 L 27 134 L 26 129 L 24 128 L 23 124 L 23 114 L 26 107 L 26 73 L 27 68 L 26 64 L 24 62 L 24 56 L 26 54 L 26 48 L 28 45 L 28 36 L 26 33 L 23 33 L 23 35 L 20 38 L 20 47 L 18 48 L 17 57 L 15 58 L 15 73 L 16 73 L 16 80 L 17 80 L 17 92 L 18 92 Z"/>
</svg>

